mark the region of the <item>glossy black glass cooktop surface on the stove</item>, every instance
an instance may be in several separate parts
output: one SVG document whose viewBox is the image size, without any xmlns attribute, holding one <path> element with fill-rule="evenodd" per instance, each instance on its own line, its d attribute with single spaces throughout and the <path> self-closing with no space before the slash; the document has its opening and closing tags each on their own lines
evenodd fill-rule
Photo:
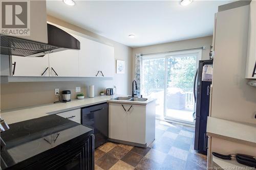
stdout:
<svg viewBox="0 0 256 170">
<path fill-rule="evenodd" d="M 6 143 L 1 152 L 2 169 L 82 134 L 93 134 L 93 129 L 55 114 L 18 122 L 9 127 L 9 130 L 1 133 L 1 138 Z"/>
</svg>

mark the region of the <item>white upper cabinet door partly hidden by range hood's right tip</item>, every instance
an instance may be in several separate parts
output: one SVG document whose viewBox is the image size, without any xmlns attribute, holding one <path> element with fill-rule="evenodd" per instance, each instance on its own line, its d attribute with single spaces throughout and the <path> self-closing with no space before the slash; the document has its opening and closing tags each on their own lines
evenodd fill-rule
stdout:
<svg viewBox="0 0 256 170">
<path fill-rule="evenodd" d="M 70 33 L 69 33 L 70 34 Z M 78 39 L 78 36 L 71 34 Z M 50 77 L 78 77 L 79 50 L 64 50 L 49 54 Z"/>
</svg>

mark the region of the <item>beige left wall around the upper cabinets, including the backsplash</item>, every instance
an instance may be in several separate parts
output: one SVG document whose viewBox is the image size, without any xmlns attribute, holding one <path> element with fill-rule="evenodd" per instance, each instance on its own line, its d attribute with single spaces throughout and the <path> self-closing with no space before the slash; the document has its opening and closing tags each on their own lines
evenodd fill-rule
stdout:
<svg viewBox="0 0 256 170">
<path fill-rule="evenodd" d="M 86 87 L 95 85 L 95 94 L 107 87 L 117 86 L 117 93 L 130 94 L 132 81 L 132 48 L 108 38 L 102 37 L 88 30 L 71 25 L 65 21 L 52 16 L 47 20 L 59 26 L 80 32 L 99 41 L 111 44 L 115 48 L 115 60 L 125 61 L 125 74 L 114 74 L 111 78 L 84 78 L 72 82 L 19 82 L 1 84 L 1 110 L 52 103 L 57 100 L 54 95 L 54 88 L 60 90 L 71 90 L 72 99 L 76 97 L 75 87 L 80 86 L 81 92 L 86 93 Z"/>
</svg>

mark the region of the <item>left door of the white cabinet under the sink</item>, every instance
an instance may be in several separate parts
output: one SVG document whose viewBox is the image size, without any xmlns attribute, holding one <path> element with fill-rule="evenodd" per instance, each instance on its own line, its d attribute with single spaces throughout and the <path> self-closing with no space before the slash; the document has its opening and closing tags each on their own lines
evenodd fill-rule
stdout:
<svg viewBox="0 0 256 170">
<path fill-rule="evenodd" d="M 110 138 L 129 141 L 127 136 L 127 114 L 119 103 L 109 103 Z"/>
</svg>

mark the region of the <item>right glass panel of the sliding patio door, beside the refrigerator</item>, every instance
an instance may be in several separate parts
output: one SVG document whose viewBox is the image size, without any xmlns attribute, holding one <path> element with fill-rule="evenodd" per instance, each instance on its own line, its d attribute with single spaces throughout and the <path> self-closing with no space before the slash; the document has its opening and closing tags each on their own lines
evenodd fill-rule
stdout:
<svg viewBox="0 0 256 170">
<path fill-rule="evenodd" d="M 177 55 L 167 59 L 165 117 L 193 123 L 193 85 L 197 69 L 196 55 Z"/>
</svg>

